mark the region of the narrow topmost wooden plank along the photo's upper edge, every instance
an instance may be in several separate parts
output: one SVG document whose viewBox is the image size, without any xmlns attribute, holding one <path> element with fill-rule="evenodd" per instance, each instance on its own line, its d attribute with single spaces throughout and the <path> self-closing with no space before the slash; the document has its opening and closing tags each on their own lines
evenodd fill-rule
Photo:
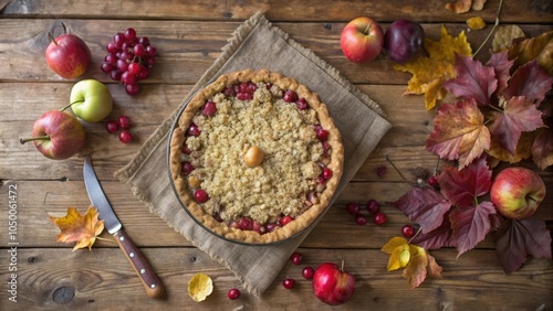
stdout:
<svg viewBox="0 0 553 311">
<path fill-rule="evenodd" d="M 490 0 L 483 11 L 471 11 L 467 14 L 455 14 L 445 9 L 448 1 L 70 1 L 51 3 L 40 1 L 3 1 L 1 14 L 4 18 L 96 18 L 96 19 L 174 19 L 174 20 L 244 20 L 257 11 L 262 11 L 275 21 L 349 21 L 359 14 L 368 15 L 377 21 L 394 21 L 409 18 L 424 22 L 458 21 L 465 22 L 467 17 L 481 15 L 488 22 L 495 20 L 499 0 Z M 0 8 L 2 8 L 0 7 Z M 355 8 L 355 10 L 352 10 Z M 533 21 L 551 22 L 552 8 L 546 1 L 503 1 L 501 20 L 504 22 Z M 361 12 L 361 13 L 359 13 Z"/>
</svg>

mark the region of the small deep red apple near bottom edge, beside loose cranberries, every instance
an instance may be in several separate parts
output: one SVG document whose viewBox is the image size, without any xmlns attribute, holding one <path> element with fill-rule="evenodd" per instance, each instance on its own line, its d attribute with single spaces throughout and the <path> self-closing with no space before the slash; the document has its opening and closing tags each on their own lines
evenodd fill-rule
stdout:
<svg viewBox="0 0 553 311">
<path fill-rule="evenodd" d="M 344 262 L 342 262 L 342 266 Z M 355 278 L 333 262 L 324 262 L 313 276 L 313 292 L 331 305 L 346 302 L 355 291 Z"/>
</svg>

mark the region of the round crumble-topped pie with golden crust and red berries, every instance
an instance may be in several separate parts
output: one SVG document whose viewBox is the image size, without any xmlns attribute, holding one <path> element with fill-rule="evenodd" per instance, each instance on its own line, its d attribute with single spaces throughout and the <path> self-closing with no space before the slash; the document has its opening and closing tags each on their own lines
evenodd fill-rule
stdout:
<svg viewBox="0 0 553 311">
<path fill-rule="evenodd" d="M 169 174 L 189 215 L 237 243 L 293 237 L 328 206 L 341 135 L 319 95 L 279 73 L 223 74 L 198 90 L 169 136 Z"/>
</svg>

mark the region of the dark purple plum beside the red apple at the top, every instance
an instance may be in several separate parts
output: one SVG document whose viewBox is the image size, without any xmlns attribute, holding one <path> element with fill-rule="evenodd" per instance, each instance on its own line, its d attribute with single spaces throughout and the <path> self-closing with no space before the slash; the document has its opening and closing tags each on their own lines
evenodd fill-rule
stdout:
<svg viewBox="0 0 553 311">
<path fill-rule="evenodd" d="M 417 22 L 397 20 L 384 33 L 384 49 L 394 62 L 408 62 L 424 53 L 425 30 Z"/>
</svg>

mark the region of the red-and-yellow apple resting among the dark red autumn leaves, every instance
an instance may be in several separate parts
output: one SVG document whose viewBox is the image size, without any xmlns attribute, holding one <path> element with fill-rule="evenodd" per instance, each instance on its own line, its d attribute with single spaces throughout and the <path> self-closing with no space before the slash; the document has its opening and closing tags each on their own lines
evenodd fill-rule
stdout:
<svg viewBox="0 0 553 311">
<path fill-rule="evenodd" d="M 513 167 L 498 173 L 490 190 L 498 212 L 512 219 L 532 216 L 545 197 L 545 183 L 532 170 Z"/>
</svg>

